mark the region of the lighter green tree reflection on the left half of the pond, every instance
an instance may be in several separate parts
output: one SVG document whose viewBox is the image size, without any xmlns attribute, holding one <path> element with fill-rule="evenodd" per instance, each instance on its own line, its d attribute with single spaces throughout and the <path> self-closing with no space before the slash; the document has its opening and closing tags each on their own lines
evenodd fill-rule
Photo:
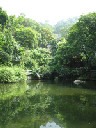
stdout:
<svg viewBox="0 0 96 128">
<path fill-rule="evenodd" d="M 11 85 L 9 86 L 11 87 Z M 45 122 L 49 120 L 50 117 L 47 115 L 44 117 L 44 114 L 50 105 L 51 98 L 45 94 L 47 93 L 45 90 L 43 90 L 45 91 L 45 95 L 43 93 L 40 95 L 42 92 L 41 87 L 35 85 L 32 87 L 32 89 L 30 89 L 30 91 L 26 91 L 25 88 L 26 93 L 24 93 L 22 86 L 21 89 L 18 87 L 18 85 L 17 87 L 14 86 L 14 88 L 12 87 L 8 90 L 7 87 L 1 87 L 2 93 L 0 93 L 0 126 L 2 124 L 2 128 L 4 128 L 5 125 L 7 125 L 10 121 L 14 122 L 14 120 L 17 121 L 18 124 L 18 122 L 20 123 L 21 119 L 22 124 L 26 119 L 28 122 L 30 120 L 30 123 L 33 123 L 34 125 L 38 124 L 38 126 L 40 126 L 41 124 L 37 123 L 37 121 L 40 122 L 40 120 L 42 120 L 42 122 Z M 27 124 L 26 122 L 26 126 L 27 125 L 30 124 Z"/>
</svg>

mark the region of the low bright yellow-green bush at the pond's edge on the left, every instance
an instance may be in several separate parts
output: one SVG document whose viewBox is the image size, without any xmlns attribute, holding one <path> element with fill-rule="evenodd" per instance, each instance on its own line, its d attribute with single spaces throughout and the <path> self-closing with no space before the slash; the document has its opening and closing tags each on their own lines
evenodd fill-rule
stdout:
<svg viewBox="0 0 96 128">
<path fill-rule="evenodd" d="M 0 67 L 0 82 L 10 83 L 26 80 L 25 71 L 19 67 Z"/>
</svg>

